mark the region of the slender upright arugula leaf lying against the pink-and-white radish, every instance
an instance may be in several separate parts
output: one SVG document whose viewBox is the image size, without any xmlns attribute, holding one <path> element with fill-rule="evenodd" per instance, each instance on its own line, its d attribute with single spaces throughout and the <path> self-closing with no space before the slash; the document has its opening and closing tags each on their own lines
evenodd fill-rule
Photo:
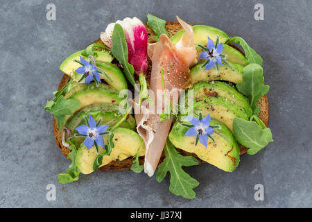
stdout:
<svg viewBox="0 0 312 222">
<path fill-rule="evenodd" d="M 120 24 L 115 24 L 114 26 L 112 34 L 112 54 L 123 65 L 125 77 L 137 89 L 137 86 L 135 85 L 135 77 L 133 76 L 135 69 L 128 62 L 128 46 L 127 42 L 125 42 L 123 27 L 121 27 Z"/>
</svg>

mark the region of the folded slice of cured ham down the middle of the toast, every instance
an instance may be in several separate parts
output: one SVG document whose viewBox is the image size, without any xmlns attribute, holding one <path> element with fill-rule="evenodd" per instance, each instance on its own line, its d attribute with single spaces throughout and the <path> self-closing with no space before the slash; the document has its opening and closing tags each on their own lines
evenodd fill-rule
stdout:
<svg viewBox="0 0 312 222">
<path fill-rule="evenodd" d="M 180 89 L 192 85 L 189 66 L 197 57 L 193 28 L 180 18 L 177 19 L 186 30 L 177 46 L 172 44 L 167 35 L 162 34 L 159 42 L 148 47 L 148 56 L 152 60 L 150 90 L 155 95 L 154 99 L 150 99 L 154 100 L 154 104 L 144 101 L 141 107 L 135 105 L 135 110 L 141 111 L 141 114 L 135 114 L 135 119 L 138 133 L 146 143 L 144 172 L 148 176 L 153 176 L 155 172 L 172 123 L 172 118 L 160 121 L 159 114 L 168 103 L 175 107 Z"/>
</svg>

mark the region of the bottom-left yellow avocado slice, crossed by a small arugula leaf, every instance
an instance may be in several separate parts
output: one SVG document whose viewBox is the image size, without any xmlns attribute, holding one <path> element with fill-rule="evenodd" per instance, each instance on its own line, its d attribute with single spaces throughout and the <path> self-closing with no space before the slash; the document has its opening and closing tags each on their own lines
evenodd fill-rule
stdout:
<svg viewBox="0 0 312 222">
<path fill-rule="evenodd" d="M 130 156 L 135 156 L 139 151 L 139 156 L 145 155 L 145 145 L 143 139 L 139 134 L 130 129 L 116 128 L 114 130 L 114 148 L 110 155 L 103 156 L 103 162 L 100 167 L 109 164 L 114 160 L 125 160 Z M 107 135 L 104 136 L 104 142 L 107 144 Z M 103 153 L 105 150 L 99 146 L 98 152 Z M 84 144 L 81 144 L 76 155 L 76 166 L 83 174 L 89 174 L 93 172 L 94 160 L 98 156 L 96 153 L 96 147 L 92 146 L 89 150 Z"/>
</svg>

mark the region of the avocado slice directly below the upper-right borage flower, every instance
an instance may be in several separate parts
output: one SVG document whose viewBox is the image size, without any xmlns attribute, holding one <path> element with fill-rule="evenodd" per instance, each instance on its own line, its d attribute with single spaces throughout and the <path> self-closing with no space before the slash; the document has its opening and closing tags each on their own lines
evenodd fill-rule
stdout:
<svg viewBox="0 0 312 222">
<path fill-rule="evenodd" d="M 229 62 L 229 65 L 233 67 L 232 70 L 226 64 L 219 65 L 219 71 L 216 70 L 216 66 L 212 69 L 205 69 L 202 67 L 204 62 L 198 63 L 195 67 L 191 68 L 191 77 L 193 83 L 198 83 L 200 81 L 212 81 L 212 80 L 227 80 L 232 83 L 243 82 L 243 66 Z"/>
</svg>

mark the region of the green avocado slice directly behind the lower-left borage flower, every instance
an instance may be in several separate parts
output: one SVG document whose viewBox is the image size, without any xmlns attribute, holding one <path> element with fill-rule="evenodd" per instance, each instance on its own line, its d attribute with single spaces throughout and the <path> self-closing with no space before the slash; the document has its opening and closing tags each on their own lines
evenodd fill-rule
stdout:
<svg viewBox="0 0 312 222">
<path fill-rule="evenodd" d="M 87 105 L 85 108 L 82 108 L 78 112 L 76 112 L 72 117 L 70 117 L 66 123 L 66 127 L 69 128 L 71 133 L 78 133 L 75 128 L 80 125 L 87 125 L 87 119 L 91 115 L 96 122 L 101 119 L 101 125 L 109 125 L 114 126 L 117 122 L 119 122 L 123 118 L 123 114 L 119 113 L 118 105 L 113 103 L 98 103 Z M 135 130 L 135 118 L 132 115 L 129 115 L 128 118 L 123 121 L 120 125 L 122 128 L 129 128 L 131 130 Z M 76 147 L 80 146 L 83 142 L 83 137 L 73 137 L 71 142 L 76 145 Z"/>
</svg>

